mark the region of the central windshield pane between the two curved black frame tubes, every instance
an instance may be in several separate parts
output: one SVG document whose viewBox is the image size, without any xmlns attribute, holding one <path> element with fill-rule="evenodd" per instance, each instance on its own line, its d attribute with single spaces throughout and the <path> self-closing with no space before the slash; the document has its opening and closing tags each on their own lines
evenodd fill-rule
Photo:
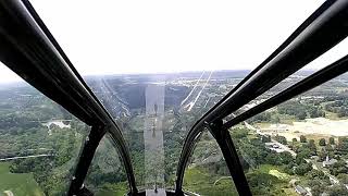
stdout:
<svg viewBox="0 0 348 196">
<path fill-rule="evenodd" d="M 147 188 L 174 187 L 188 130 L 321 3 L 33 1 L 122 126 Z"/>
</svg>

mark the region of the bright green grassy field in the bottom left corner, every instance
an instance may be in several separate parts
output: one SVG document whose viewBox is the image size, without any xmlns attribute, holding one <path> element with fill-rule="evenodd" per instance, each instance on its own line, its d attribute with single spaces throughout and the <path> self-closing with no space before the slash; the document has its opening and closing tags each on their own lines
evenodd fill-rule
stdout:
<svg viewBox="0 0 348 196">
<path fill-rule="evenodd" d="M 11 191 L 15 196 L 42 196 L 32 173 L 10 173 L 10 163 L 0 162 L 0 195 Z"/>
</svg>

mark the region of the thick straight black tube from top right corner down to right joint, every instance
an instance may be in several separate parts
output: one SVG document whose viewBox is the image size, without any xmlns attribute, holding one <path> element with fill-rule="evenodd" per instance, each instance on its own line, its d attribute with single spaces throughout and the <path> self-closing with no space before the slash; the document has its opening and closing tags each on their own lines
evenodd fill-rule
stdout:
<svg viewBox="0 0 348 196">
<path fill-rule="evenodd" d="M 348 35 L 348 1 L 337 0 L 210 113 L 221 120 L 323 54 Z"/>
</svg>

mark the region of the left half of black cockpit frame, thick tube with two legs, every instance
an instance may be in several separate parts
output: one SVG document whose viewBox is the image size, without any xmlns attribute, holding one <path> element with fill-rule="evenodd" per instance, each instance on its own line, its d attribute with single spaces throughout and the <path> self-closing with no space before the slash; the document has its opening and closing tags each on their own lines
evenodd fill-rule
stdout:
<svg viewBox="0 0 348 196">
<path fill-rule="evenodd" d="M 0 60 L 27 83 L 91 126 L 71 182 L 69 195 L 78 194 L 105 132 L 109 132 L 128 177 L 138 193 L 129 150 L 122 132 L 92 94 L 27 0 L 0 0 Z"/>
</svg>

